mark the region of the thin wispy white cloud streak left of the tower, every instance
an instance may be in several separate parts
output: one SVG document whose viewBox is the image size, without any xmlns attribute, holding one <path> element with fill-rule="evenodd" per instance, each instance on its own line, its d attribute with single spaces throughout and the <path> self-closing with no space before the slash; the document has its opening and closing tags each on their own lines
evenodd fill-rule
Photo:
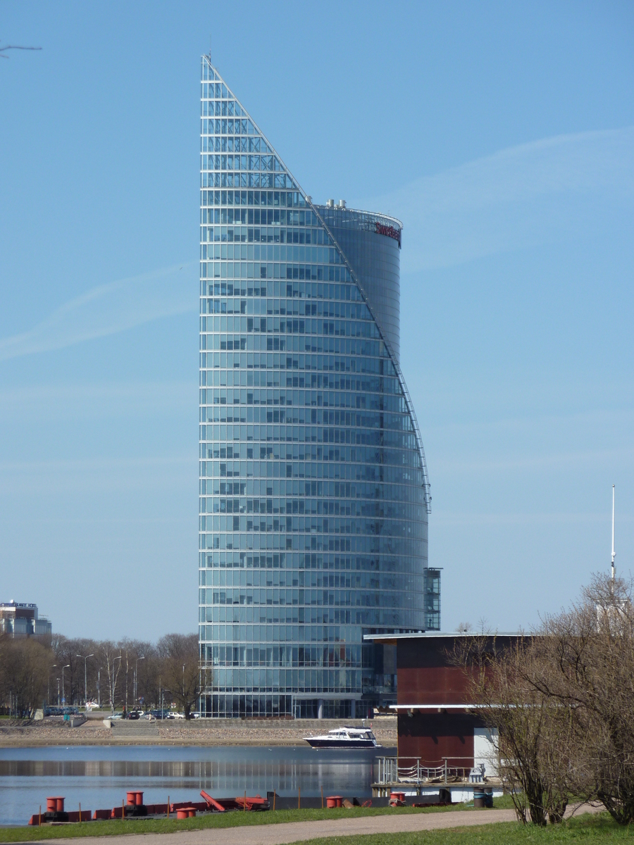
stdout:
<svg viewBox="0 0 634 845">
<path fill-rule="evenodd" d="M 74 346 L 150 320 L 198 309 L 198 262 L 99 285 L 56 308 L 41 323 L 0 339 L 0 361 Z"/>
</svg>

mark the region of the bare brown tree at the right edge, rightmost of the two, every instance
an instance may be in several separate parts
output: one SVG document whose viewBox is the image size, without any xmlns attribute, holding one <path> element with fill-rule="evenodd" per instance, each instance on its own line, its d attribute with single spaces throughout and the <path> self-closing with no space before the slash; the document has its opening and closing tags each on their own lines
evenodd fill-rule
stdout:
<svg viewBox="0 0 634 845">
<path fill-rule="evenodd" d="M 544 621 L 544 667 L 534 688 L 571 714 L 575 791 L 634 821 L 634 604 L 632 585 L 597 575 L 568 613 Z"/>
</svg>

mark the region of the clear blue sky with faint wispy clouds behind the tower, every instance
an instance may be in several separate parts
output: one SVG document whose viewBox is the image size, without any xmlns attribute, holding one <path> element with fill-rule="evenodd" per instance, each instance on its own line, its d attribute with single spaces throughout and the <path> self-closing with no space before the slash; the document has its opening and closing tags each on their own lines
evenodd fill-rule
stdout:
<svg viewBox="0 0 634 845">
<path fill-rule="evenodd" d="M 634 553 L 631 3 L 29 3 L 0 59 L 0 600 L 195 630 L 199 56 L 315 201 L 404 222 L 442 624 Z M 2 46 L 0 45 L 0 46 Z"/>
</svg>

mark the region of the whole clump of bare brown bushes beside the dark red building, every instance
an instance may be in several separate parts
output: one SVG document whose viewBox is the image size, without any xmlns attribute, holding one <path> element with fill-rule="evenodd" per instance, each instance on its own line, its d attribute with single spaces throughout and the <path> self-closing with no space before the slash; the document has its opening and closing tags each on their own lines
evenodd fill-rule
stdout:
<svg viewBox="0 0 634 845">
<path fill-rule="evenodd" d="M 519 817 L 563 818 L 571 795 L 634 821 L 634 606 L 625 581 L 596 576 L 570 611 L 530 638 L 457 655 L 500 735 L 500 776 Z M 477 671 L 473 671 L 476 666 Z"/>
</svg>

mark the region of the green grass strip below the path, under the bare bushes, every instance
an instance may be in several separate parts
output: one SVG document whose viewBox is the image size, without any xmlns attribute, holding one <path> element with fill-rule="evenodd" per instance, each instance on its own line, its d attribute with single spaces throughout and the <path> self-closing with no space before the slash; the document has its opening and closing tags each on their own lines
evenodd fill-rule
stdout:
<svg viewBox="0 0 634 845">
<path fill-rule="evenodd" d="M 369 836 L 303 840 L 305 845 L 559 845 L 559 843 L 634 842 L 634 831 L 619 826 L 607 813 L 582 815 L 561 825 L 523 826 L 498 822 L 482 827 L 454 827 L 419 833 L 377 833 Z M 302 845 L 295 842 L 293 845 Z"/>
</svg>

